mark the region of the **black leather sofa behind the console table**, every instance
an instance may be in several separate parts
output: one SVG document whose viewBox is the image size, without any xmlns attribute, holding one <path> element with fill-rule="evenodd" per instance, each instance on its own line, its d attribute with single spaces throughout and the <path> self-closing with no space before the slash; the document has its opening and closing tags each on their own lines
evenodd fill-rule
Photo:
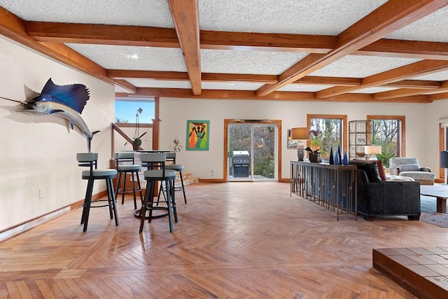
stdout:
<svg viewBox="0 0 448 299">
<path fill-rule="evenodd" d="M 351 160 L 356 165 L 358 184 L 358 214 L 373 221 L 375 216 L 407 216 L 419 220 L 420 183 L 416 181 L 384 181 L 378 162 Z M 379 163 L 381 164 L 381 163 Z M 383 175 L 384 178 L 386 177 Z"/>
</svg>

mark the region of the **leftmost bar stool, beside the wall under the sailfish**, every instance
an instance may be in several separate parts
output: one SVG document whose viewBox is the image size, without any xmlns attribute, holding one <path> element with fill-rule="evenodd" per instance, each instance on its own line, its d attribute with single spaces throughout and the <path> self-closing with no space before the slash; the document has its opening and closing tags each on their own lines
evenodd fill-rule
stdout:
<svg viewBox="0 0 448 299">
<path fill-rule="evenodd" d="M 89 221 L 90 208 L 94 207 L 109 207 L 109 214 L 111 219 L 115 217 L 115 224 L 118 226 L 118 214 L 113 191 L 113 182 L 117 176 L 117 169 L 97 169 L 98 153 L 77 153 L 76 160 L 78 166 L 89 167 L 89 170 L 83 170 L 82 178 L 87 180 L 87 190 L 85 191 L 85 198 L 83 203 L 83 215 L 81 216 L 81 224 L 84 224 L 83 231 L 87 231 L 87 223 Z M 107 200 L 92 200 L 93 183 L 95 180 L 106 180 Z M 96 202 L 107 202 L 106 204 L 94 204 Z"/>
</svg>

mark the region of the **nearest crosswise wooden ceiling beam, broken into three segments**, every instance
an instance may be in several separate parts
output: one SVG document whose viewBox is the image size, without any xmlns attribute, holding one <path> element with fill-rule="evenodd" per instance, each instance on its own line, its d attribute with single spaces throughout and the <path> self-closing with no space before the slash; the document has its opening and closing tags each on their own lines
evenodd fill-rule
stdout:
<svg viewBox="0 0 448 299">
<path fill-rule="evenodd" d="M 49 43 L 180 47 L 176 30 L 171 28 L 29 21 L 25 22 L 25 32 L 36 41 Z M 200 47 L 211 50 L 258 50 L 322 54 L 335 48 L 336 41 L 337 36 L 200 31 Z M 448 43 L 380 39 L 356 50 L 353 55 L 448 60 Z"/>
</svg>

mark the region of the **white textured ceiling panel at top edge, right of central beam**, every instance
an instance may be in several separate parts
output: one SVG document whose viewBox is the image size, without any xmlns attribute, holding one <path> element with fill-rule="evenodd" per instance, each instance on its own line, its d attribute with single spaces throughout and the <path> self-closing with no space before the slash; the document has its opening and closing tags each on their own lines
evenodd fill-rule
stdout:
<svg viewBox="0 0 448 299">
<path fill-rule="evenodd" d="M 337 35 L 386 0 L 200 0 L 202 30 Z"/>
</svg>

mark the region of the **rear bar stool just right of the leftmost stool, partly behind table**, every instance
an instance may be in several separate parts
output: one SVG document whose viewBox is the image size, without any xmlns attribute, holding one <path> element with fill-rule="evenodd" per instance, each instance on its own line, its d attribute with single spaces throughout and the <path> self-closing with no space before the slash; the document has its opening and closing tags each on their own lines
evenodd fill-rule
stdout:
<svg viewBox="0 0 448 299">
<path fill-rule="evenodd" d="M 118 171 L 118 181 L 115 190 L 116 199 L 118 198 L 118 193 L 122 193 L 123 197 L 121 204 L 125 203 L 125 193 L 131 193 L 134 195 L 134 209 L 137 209 L 137 196 L 136 193 L 140 193 L 140 201 L 143 202 L 143 195 L 141 193 L 141 186 L 139 180 L 139 172 L 141 170 L 141 165 L 134 164 L 135 153 L 113 153 L 113 159 L 115 160 L 116 169 Z M 120 162 L 131 162 L 132 164 L 122 164 Z M 121 176 L 123 175 L 123 188 L 120 188 Z M 126 188 L 126 176 L 130 174 L 132 179 L 132 188 Z M 135 188 L 135 178 L 137 177 L 137 186 Z"/>
</svg>

